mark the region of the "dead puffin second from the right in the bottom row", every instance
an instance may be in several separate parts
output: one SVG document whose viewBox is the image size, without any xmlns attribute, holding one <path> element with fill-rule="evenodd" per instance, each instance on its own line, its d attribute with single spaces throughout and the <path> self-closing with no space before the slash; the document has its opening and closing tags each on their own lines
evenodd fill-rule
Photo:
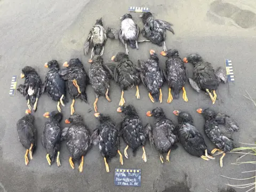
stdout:
<svg viewBox="0 0 256 192">
<path fill-rule="evenodd" d="M 194 125 L 192 116 L 185 111 L 174 110 L 178 117 L 179 125 L 176 127 L 179 142 L 183 148 L 193 156 L 201 157 L 205 161 L 215 159 L 207 150 L 203 135 Z"/>
</svg>

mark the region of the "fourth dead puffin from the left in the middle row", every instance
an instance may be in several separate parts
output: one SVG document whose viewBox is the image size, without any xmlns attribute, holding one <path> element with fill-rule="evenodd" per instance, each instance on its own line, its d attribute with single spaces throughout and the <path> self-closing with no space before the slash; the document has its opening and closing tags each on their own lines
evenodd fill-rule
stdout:
<svg viewBox="0 0 256 192">
<path fill-rule="evenodd" d="M 108 91 L 110 87 L 110 80 L 113 78 L 113 71 L 105 65 L 101 56 L 95 56 L 92 60 L 89 70 L 90 83 L 93 91 L 96 94 L 96 99 L 93 103 L 94 111 L 97 112 L 97 102 L 100 96 L 105 96 L 110 102 Z"/>
</svg>

